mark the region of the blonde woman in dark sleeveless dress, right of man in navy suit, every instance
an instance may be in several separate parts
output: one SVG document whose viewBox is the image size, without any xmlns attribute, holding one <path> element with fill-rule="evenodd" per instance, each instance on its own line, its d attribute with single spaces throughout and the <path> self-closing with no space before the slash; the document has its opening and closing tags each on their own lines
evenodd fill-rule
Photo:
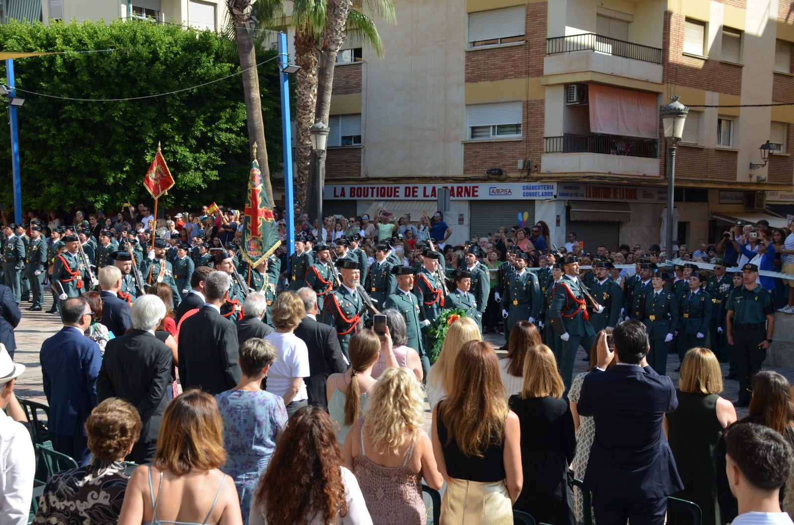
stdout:
<svg viewBox="0 0 794 525">
<path fill-rule="evenodd" d="M 676 397 L 678 408 L 665 415 L 668 441 L 684 490 L 673 494 L 694 501 L 703 523 L 723 523 L 717 502 L 716 449 L 723 430 L 736 421 L 736 409 L 720 397 L 723 373 L 709 349 L 695 347 L 684 355 Z"/>
</svg>

